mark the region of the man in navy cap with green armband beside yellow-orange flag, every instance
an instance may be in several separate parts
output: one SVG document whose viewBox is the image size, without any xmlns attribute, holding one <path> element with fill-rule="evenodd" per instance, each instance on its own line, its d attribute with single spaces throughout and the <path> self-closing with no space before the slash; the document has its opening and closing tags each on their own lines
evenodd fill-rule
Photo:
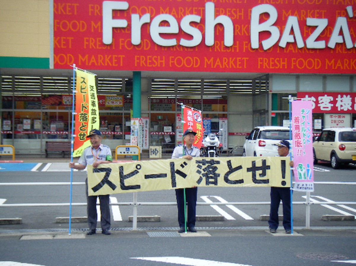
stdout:
<svg viewBox="0 0 356 266">
<path fill-rule="evenodd" d="M 90 138 L 91 146 L 83 150 L 82 155 L 78 160 L 78 164 L 69 163 L 70 168 L 83 170 L 87 165 L 92 164 L 93 168 L 97 168 L 100 164 L 112 163 L 111 149 L 109 146 L 101 144 L 101 132 L 98 129 L 92 129 L 87 138 Z M 87 213 L 89 232 L 87 235 L 93 235 L 96 232 L 96 221 L 98 214 L 96 213 L 96 198 L 97 196 L 88 196 L 88 178 L 85 179 L 85 188 L 87 194 Z M 100 212 L 101 212 L 101 233 L 110 235 L 110 205 L 109 195 L 100 195 Z"/>
</svg>

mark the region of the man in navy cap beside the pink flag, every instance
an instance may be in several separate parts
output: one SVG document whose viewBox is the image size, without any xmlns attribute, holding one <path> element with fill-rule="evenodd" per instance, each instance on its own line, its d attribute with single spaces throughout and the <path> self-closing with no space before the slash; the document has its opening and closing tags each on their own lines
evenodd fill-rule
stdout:
<svg viewBox="0 0 356 266">
<path fill-rule="evenodd" d="M 279 156 L 289 156 L 289 142 L 282 139 L 281 142 L 274 144 L 278 147 Z M 289 166 L 293 167 L 293 161 Z M 269 212 L 269 232 L 276 233 L 278 228 L 278 208 L 279 203 L 283 203 L 283 227 L 287 234 L 292 232 L 290 222 L 290 188 L 278 188 L 271 186 L 271 210 Z"/>
</svg>

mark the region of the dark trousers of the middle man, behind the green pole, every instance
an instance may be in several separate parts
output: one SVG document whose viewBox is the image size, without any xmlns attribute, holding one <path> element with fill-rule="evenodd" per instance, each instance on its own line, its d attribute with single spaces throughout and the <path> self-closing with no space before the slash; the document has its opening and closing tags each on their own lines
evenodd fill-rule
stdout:
<svg viewBox="0 0 356 266">
<path fill-rule="evenodd" d="M 198 188 L 185 189 L 185 201 L 187 202 L 187 227 L 195 227 L 195 209 L 197 208 L 197 193 Z M 179 227 L 185 227 L 184 222 L 184 189 L 176 189 L 177 205 L 178 205 L 178 223 Z"/>
</svg>

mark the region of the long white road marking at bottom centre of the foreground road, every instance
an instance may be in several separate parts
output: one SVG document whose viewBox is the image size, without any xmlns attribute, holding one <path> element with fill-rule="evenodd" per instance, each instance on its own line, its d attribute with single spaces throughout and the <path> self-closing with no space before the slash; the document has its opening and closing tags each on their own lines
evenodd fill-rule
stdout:
<svg viewBox="0 0 356 266">
<path fill-rule="evenodd" d="M 185 258 L 185 257 L 132 257 L 130 259 L 158 261 L 158 262 L 166 262 L 166 263 L 174 263 L 174 264 L 190 265 L 190 266 L 251 266 L 247 264 L 193 259 L 193 258 Z"/>
</svg>

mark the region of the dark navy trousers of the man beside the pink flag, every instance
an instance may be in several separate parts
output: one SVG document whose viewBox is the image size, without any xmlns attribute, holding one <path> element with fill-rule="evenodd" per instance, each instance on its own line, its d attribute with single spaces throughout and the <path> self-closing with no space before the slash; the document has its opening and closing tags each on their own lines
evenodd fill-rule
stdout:
<svg viewBox="0 0 356 266">
<path fill-rule="evenodd" d="M 290 230 L 290 188 L 271 187 L 271 211 L 269 212 L 269 228 L 278 228 L 279 203 L 283 203 L 283 227 Z"/>
</svg>

